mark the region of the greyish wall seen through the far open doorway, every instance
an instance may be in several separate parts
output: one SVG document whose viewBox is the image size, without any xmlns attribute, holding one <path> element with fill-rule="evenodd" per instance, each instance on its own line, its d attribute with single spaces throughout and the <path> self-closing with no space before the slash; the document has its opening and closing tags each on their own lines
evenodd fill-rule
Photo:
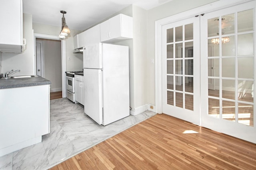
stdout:
<svg viewBox="0 0 256 170">
<path fill-rule="evenodd" d="M 62 91 L 61 41 L 37 39 L 44 43 L 44 78 L 51 81 L 50 91 Z"/>
</svg>

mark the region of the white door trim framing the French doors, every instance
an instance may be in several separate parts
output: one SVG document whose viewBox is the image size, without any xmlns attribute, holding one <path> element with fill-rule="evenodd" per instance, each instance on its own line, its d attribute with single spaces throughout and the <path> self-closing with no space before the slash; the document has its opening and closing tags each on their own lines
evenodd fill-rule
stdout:
<svg viewBox="0 0 256 170">
<path fill-rule="evenodd" d="M 162 26 L 192 16 L 213 12 L 253 0 L 219 0 L 192 10 L 155 21 L 155 103 L 156 113 L 162 113 Z M 255 0 L 254 0 L 255 1 Z"/>
</svg>

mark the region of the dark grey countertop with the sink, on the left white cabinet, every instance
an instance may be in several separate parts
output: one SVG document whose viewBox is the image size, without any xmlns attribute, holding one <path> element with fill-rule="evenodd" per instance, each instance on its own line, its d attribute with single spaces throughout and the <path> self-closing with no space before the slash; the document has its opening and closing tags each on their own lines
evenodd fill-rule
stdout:
<svg viewBox="0 0 256 170">
<path fill-rule="evenodd" d="M 40 86 L 51 84 L 50 80 L 38 77 L 31 78 L 9 78 L 9 79 L 0 79 L 0 89 L 5 88 L 19 88 L 19 87 L 28 87 L 28 86 Z"/>
</svg>

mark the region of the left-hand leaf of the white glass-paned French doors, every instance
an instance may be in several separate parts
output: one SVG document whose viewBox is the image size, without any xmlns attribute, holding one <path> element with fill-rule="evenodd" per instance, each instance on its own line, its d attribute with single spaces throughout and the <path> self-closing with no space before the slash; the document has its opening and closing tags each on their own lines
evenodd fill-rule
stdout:
<svg viewBox="0 0 256 170">
<path fill-rule="evenodd" d="M 162 112 L 200 125 L 200 17 L 162 27 Z"/>
</svg>

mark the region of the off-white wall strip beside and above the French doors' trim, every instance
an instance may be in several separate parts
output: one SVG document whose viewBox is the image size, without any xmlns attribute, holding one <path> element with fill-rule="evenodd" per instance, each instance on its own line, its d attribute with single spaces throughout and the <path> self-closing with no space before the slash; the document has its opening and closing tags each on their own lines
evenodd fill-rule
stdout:
<svg viewBox="0 0 256 170">
<path fill-rule="evenodd" d="M 155 59 L 155 21 L 186 10 L 190 10 L 218 0 L 172 0 L 166 4 L 147 11 L 147 92 L 148 103 L 155 105 L 155 65 L 151 59 Z"/>
</svg>

